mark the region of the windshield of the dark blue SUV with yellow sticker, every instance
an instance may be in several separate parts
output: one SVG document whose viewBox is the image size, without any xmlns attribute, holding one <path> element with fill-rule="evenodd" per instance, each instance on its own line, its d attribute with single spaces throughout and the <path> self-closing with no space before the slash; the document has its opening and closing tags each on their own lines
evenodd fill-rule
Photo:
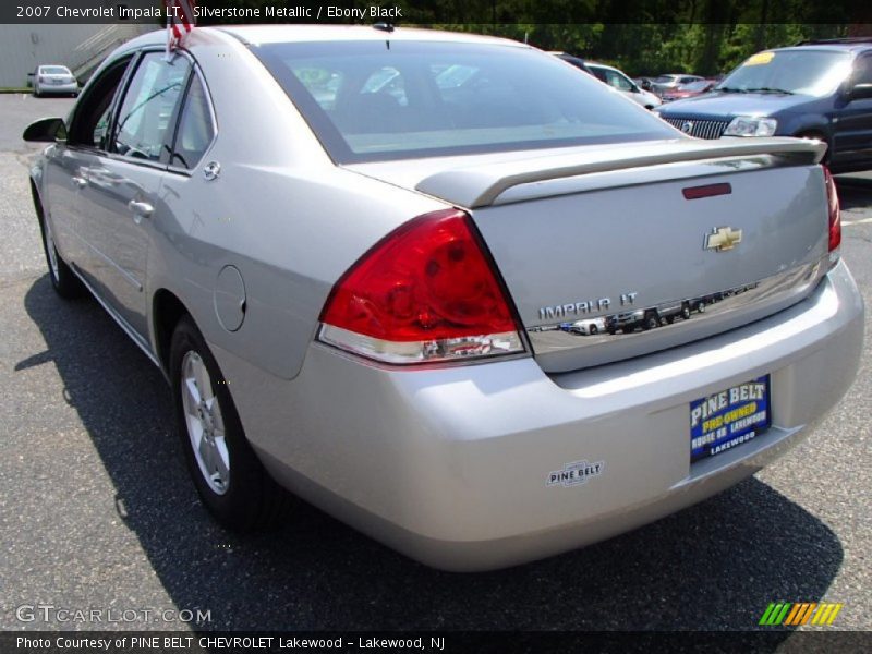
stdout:
<svg viewBox="0 0 872 654">
<path fill-rule="evenodd" d="M 833 93 L 850 70 L 848 52 L 770 50 L 746 60 L 718 85 L 718 89 L 783 90 L 820 97 Z"/>
</svg>

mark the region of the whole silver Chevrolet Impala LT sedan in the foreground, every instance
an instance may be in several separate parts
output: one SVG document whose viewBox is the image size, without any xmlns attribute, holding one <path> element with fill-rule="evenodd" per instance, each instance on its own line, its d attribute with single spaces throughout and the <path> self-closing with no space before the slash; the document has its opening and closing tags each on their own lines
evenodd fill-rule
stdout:
<svg viewBox="0 0 872 654">
<path fill-rule="evenodd" d="M 165 372 L 228 528 L 298 496 L 433 566 L 526 561 L 736 484 L 853 379 L 821 143 L 691 138 L 495 38 L 164 45 L 25 138 L 55 289 Z"/>
</svg>

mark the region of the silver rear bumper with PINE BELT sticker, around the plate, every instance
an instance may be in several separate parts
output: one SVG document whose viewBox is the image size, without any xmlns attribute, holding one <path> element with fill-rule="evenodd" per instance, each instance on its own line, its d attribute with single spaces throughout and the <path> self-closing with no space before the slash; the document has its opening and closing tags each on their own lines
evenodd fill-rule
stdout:
<svg viewBox="0 0 872 654">
<path fill-rule="evenodd" d="M 282 382 L 216 354 L 281 483 L 413 558 L 482 570 L 601 541 L 752 474 L 841 398 L 862 339 L 843 263 L 764 320 L 556 376 L 529 358 L 398 371 L 315 344 Z M 765 374 L 772 428 L 691 465 L 689 402 Z M 603 462 L 601 474 L 547 485 L 583 460 Z"/>
</svg>

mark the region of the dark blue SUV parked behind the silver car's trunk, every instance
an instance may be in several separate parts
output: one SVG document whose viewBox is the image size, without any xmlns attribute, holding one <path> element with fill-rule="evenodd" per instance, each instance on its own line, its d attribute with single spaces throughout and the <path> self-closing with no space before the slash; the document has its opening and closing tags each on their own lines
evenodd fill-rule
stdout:
<svg viewBox="0 0 872 654">
<path fill-rule="evenodd" d="M 712 93 L 659 114 L 701 138 L 816 138 L 833 172 L 872 168 L 872 38 L 758 52 Z"/>
</svg>

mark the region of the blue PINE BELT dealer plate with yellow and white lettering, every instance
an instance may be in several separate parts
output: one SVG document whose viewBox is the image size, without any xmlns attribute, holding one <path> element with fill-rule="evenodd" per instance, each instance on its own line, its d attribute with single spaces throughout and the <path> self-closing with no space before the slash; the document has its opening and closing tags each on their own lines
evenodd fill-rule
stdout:
<svg viewBox="0 0 872 654">
<path fill-rule="evenodd" d="M 770 376 L 690 403 L 690 460 L 719 455 L 764 432 L 772 422 Z"/>
</svg>

